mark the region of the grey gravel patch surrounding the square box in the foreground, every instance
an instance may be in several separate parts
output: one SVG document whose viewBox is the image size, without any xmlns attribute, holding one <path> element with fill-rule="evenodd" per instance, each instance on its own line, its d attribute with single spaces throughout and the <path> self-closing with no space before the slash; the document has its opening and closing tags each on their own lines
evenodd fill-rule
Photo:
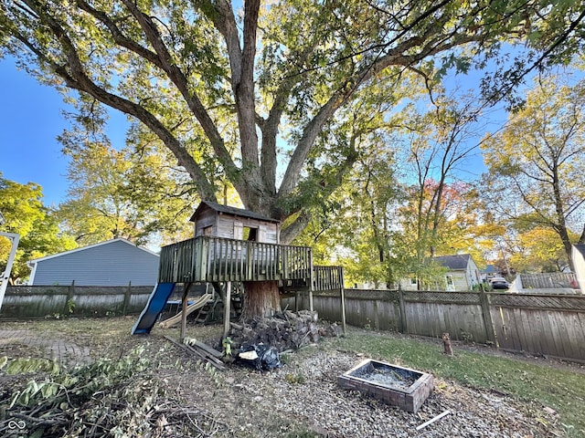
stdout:
<svg viewBox="0 0 585 438">
<path fill-rule="evenodd" d="M 521 438 L 560 434 L 550 425 L 554 412 L 440 379 L 435 379 L 435 390 L 417 413 L 341 389 L 337 377 L 363 359 L 346 351 L 308 347 L 286 355 L 277 370 L 231 366 L 211 386 L 208 377 L 183 380 L 180 395 L 187 405 L 224 419 L 226 430 L 218 436 Z M 417 426 L 445 411 L 450 413 L 417 431 Z"/>
</svg>

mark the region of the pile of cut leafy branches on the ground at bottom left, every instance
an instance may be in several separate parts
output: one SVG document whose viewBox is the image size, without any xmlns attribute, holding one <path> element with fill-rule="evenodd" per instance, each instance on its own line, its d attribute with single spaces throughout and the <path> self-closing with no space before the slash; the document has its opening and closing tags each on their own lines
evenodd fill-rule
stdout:
<svg viewBox="0 0 585 438">
<path fill-rule="evenodd" d="M 21 423 L 27 436 L 43 438 L 210 436 L 228 429 L 203 410 L 181 406 L 138 350 L 70 372 L 36 373 L 6 395 L 0 394 L 0 436 Z"/>
</svg>

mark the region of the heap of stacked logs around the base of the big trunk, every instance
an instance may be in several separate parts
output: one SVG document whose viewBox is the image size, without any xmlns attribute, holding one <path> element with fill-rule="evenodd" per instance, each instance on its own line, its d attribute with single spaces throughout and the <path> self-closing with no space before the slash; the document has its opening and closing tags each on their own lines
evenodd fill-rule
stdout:
<svg viewBox="0 0 585 438">
<path fill-rule="evenodd" d="M 279 352 L 299 349 L 314 344 L 322 336 L 339 336 L 341 328 L 319 322 L 317 312 L 302 310 L 294 313 L 285 310 L 271 318 L 254 318 L 250 321 L 231 323 L 229 338 L 232 349 L 241 346 L 265 344 Z"/>
</svg>

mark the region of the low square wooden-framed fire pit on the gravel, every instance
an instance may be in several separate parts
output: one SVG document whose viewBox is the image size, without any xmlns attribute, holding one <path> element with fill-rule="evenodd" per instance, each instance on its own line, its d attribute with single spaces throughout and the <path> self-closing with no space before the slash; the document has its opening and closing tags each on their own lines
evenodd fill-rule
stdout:
<svg viewBox="0 0 585 438">
<path fill-rule="evenodd" d="M 399 408 L 417 412 L 432 392 L 432 375 L 377 360 L 364 360 L 337 378 L 346 390 L 361 391 Z"/>
</svg>

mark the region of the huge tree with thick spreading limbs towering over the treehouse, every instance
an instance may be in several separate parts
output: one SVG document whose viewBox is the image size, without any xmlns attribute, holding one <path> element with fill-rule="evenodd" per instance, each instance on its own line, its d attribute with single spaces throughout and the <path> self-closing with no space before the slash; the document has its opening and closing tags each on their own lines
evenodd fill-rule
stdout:
<svg viewBox="0 0 585 438">
<path fill-rule="evenodd" d="M 391 93 L 405 70 L 431 85 L 448 68 L 494 57 L 506 39 L 526 39 L 540 52 L 503 77 L 497 87 L 506 89 L 544 59 L 580 49 L 585 16 L 582 1 L 541 0 L 248 0 L 241 9 L 228 0 L 0 0 L 0 8 L 0 44 L 30 73 L 139 120 L 202 199 L 216 199 L 219 170 L 245 207 L 291 218 L 284 243 L 310 220 L 306 200 L 332 193 L 355 162 L 351 144 L 331 132 L 369 87 Z M 309 160 L 330 167 L 327 182 L 306 172 Z"/>
</svg>

